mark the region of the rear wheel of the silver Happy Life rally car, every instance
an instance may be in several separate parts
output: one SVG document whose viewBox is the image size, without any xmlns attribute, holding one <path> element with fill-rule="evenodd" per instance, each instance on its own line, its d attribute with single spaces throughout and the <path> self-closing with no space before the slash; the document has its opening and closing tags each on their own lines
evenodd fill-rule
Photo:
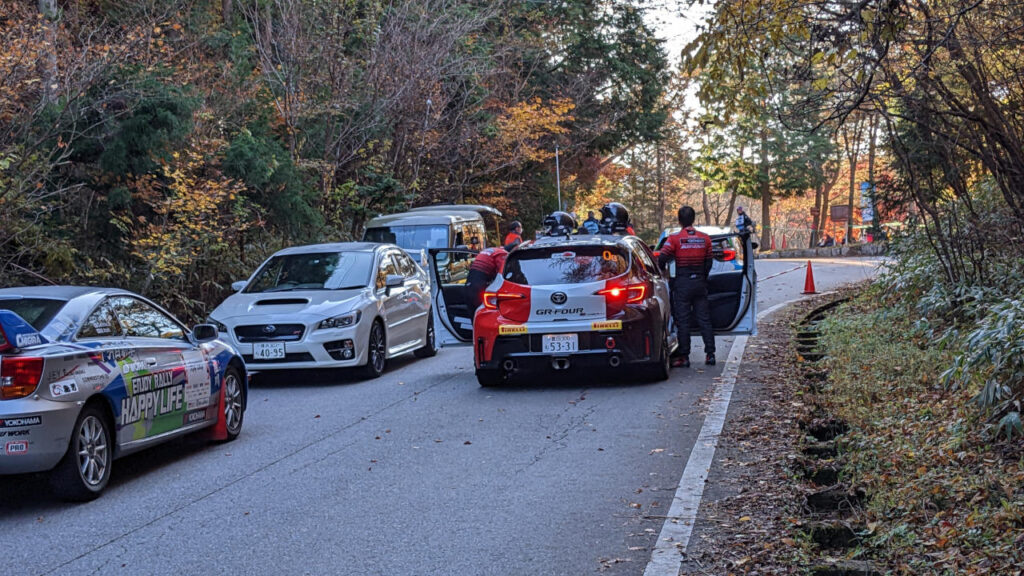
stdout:
<svg viewBox="0 0 1024 576">
<path fill-rule="evenodd" d="M 79 413 L 68 453 L 50 475 L 53 493 L 72 502 L 87 502 L 102 494 L 111 480 L 114 442 L 106 414 L 94 404 Z"/>
</svg>

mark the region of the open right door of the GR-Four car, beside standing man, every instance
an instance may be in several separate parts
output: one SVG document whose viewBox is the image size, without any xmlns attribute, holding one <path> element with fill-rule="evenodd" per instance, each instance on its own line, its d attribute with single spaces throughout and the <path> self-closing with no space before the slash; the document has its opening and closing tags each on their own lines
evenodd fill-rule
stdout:
<svg viewBox="0 0 1024 576">
<path fill-rule="evenodd" d="M 720 234 L 711 239 L 715 262 L 708 276 L 708 303 L 715 333 L 756 334 L 758 275 L 751 235 Z M 695 318 L 690 331 L 699 333 Z"/>
</svg>

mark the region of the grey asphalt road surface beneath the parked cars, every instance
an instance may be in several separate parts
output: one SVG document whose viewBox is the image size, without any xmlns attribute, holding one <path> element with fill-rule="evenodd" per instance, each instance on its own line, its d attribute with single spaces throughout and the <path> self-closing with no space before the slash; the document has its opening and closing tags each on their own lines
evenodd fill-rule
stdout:
<svg viewBox="0 0 1024 576">
<path fill-rule="evenodd" d="M 760 310 L 801 297 L 802 263 L 758 261 Z M 878 263 L 815 260 L 817 289 Z M 238 441 L 118 460 L 97 501 L 0 479 L 0 573 L 641 574 L 721 373 L 701 347 L 653 384 L 570 373 L 485 389 L 468 348 L 376 380 L 257 381 Z"/>
</svg>

